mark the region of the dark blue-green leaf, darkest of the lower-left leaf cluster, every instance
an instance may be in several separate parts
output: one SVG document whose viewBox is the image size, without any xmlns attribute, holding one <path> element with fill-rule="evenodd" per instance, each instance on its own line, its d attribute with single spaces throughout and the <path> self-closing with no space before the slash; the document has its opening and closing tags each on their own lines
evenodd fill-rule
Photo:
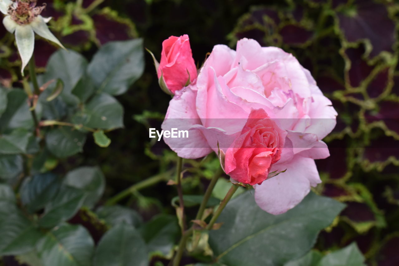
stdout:
<svg viewBox="0 0 399 266">
<path fill-rule="evenodd" d="M 36 212 L 57 195 L 60 187 L 58 177 L 52 173 L 38 174 L 28 177 L 21 185 L 21 201 L 28 212 Z"/>
</svg>

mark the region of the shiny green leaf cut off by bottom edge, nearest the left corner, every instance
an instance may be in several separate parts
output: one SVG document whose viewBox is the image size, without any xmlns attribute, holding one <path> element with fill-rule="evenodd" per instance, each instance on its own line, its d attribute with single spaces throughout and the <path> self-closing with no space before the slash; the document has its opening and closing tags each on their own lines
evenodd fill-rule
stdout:
<svg viewBox="0 0 399 266">
<path fill-rule="evenodd" d="M 61 224 L 48 232 L 37 245 L 44 266 L 91 265 L 94 241 L 81 225 Z"/>
</svg>

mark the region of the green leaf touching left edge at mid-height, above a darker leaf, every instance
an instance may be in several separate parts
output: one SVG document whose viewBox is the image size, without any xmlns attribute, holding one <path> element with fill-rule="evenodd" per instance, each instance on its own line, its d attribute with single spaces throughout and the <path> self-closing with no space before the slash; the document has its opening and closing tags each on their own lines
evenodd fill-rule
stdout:
<svg viewBox="0 0 399 266">
<path fill-rule="evenodd" d="M 15 129 L 8 135 L 0 136 L 0 154 L 27 153 L 32 133 L 26 129 Z"/>
</svg>

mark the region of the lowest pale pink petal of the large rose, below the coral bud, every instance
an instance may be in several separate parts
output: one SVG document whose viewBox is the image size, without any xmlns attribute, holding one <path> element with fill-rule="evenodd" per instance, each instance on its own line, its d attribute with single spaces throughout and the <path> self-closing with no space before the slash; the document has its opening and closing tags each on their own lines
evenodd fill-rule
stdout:
<svg viewBox="0 0 399 266">
<path fill-rule="evenodd" d="M 310 187 L 320 183 L 313 159 L 296 155 L 289 163 L 273 165 L 271 171 L 285 171 L 255 185 L 255 201 L 271 214 L 281 214 L 296 206 L 308 195 Z"/>
</svg>

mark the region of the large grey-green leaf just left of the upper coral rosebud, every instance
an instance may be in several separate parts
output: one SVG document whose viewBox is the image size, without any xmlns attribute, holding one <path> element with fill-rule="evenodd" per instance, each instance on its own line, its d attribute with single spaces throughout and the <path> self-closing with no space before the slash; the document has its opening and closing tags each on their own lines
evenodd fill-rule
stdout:
<svg viewBox="0 0 399 266">
<path fill-rule="evenodd" d="M 144 71 L 143 40 L 109 42 L 90 62 L 88 72 L 100 92 L 120 95 Z"/>
</svg>

